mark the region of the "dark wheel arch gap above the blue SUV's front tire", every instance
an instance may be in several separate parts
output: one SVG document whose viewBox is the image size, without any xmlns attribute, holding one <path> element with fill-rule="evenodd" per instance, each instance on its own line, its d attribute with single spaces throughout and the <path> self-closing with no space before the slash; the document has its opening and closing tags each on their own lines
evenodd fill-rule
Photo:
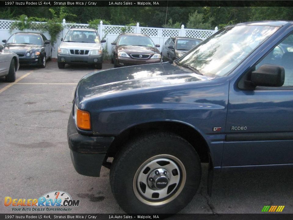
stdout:
<svg viewBox="0 0 293 220">
<path fill-rule="evenodd" d="M 165 131 L 179 135 L 194 147 L 200 157 L 201 162 L 209 162 L 208 144 L 200 132 L 190 125 L 173 121 L 142 123 L 123 130 L 118 136 L 115 137 L 113 143 L 108 149 L 108 157 L 114 157 L 119 149 L 124 145 L 124 143 L 133 137 L 150 131 Z"/>
</svg>

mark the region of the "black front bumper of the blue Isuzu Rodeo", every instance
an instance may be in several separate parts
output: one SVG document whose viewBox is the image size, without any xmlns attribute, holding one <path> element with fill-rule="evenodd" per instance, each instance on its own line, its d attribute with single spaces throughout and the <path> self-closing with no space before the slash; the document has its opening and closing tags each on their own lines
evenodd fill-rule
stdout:
<svg viewBox="0 0 293 220">
<path fill-rule="evenodd" d="M 114 137 L 94 137 L 79 134 L 70 114 L 67 141 L 75 170 L 85 176 L 99 177 L 108 148 Z"/>
</svg>

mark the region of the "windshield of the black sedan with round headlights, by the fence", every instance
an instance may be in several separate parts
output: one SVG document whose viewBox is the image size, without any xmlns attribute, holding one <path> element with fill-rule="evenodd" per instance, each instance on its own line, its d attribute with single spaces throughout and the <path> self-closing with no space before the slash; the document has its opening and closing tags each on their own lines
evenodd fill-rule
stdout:
<svg viewBox="0 0 293 220">
<path fill-rule="evenodd" d="M 6 43 L 43 45 L 43 40 L 40 35 L 14 34 Z"/>
</svg>

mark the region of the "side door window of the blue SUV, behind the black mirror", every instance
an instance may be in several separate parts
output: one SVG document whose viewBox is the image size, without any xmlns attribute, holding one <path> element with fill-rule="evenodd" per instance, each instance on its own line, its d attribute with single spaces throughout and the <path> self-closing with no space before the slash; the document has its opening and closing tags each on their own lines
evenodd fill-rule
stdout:
<svg viewBox="0 0 293 220">
<path fill-rule="evenodd" d="M 258 69 L 263 64 L 282 66 L 285 69 L 283 86 L 293 86 L 293 34 L 285 38 L 280 44 L 267 54 L 256 66 Z"/>
</svg>

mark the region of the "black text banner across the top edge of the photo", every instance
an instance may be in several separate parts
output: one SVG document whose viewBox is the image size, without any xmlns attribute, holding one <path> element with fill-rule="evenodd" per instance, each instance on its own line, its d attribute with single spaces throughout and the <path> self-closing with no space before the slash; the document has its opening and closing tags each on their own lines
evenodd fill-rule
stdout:
<svg viewBox="0 0 293 220">
<path fill-rule="evenodd" d="M 0 6 L 35 6 L 35 7 L 57 7 L 57 6 L 83 6 L 83 7 L 101 7 L 101 6 L 109 6 L 109 7 L 117 7 L 117 6 L 134 6 L 134 7 L 197 7 L 197 6 L 215 6 L 215 7 L 243 7 L 243 6 L 280 6 L 280 7 L 288 7 L 293 6 L 293 1 L 166 1 L 166 0 L 130 0 L 130 1 L 100 1 L 100 0 L 91 0 L 91 1 L 52 1 L 52 0 L 11 0 L 11 1 L 0 1 Z"/>
</svg>

